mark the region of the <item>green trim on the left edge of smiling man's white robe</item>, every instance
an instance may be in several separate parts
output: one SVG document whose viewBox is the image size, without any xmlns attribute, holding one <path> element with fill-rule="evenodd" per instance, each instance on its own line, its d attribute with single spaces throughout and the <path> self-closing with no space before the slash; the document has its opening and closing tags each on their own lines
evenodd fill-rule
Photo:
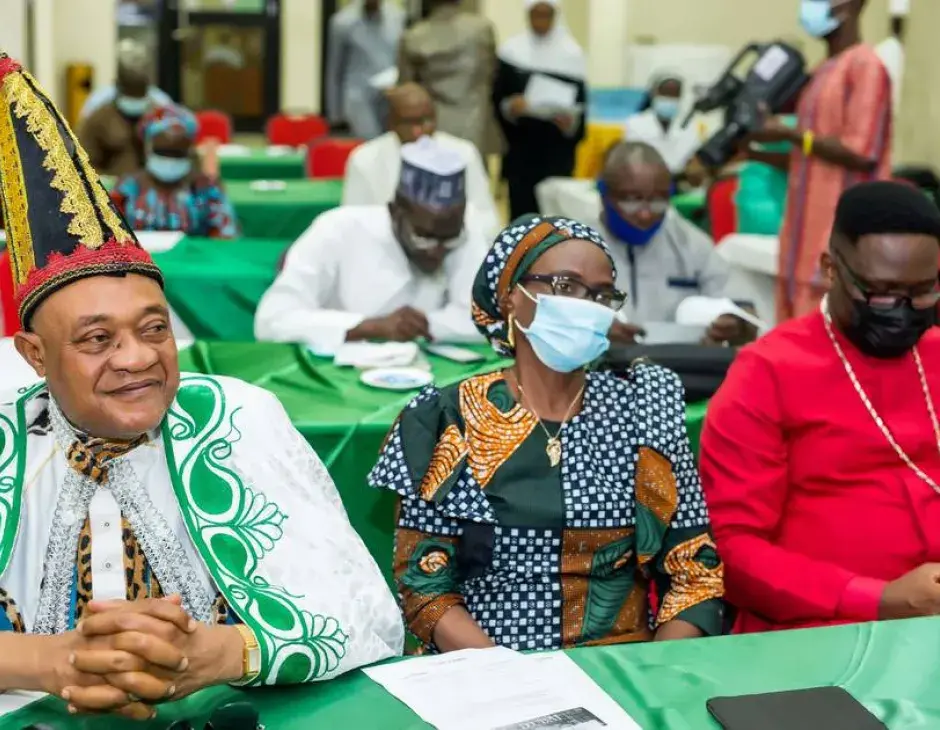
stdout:
<svg viewBox="0 0 940 730">
<path fill-rule="evenodd" d="M 16 423 L 0 411 L 0 576 L 6 573 L 20 530 L 23 484 L 26 470 L 26 405 L 45 389 L 39 383 L 21 390 L 17 399 Z"/>
</svg>

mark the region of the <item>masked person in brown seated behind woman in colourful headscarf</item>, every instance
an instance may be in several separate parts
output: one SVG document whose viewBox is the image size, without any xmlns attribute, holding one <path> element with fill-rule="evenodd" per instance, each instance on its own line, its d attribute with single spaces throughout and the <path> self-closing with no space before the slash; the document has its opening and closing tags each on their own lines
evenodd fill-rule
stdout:
<svg viewBox="0 0 940 730">
<path fill-rule="evenodd" d="M 83 115 L 78 139 L 99 175 L 120 177 L 144 166 L 137 125 L 155 106 L 149 60 L 142 46 L 134 44 L 121 49 L 117 79 L 111 88 L 108 98 L 99 98 L 94 110 Z"/>
</svg>

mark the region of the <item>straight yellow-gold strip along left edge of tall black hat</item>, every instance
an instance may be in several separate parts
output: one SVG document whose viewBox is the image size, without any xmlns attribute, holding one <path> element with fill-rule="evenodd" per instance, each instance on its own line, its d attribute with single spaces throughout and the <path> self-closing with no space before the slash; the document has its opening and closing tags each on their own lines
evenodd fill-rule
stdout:
<svg viewBox="0 0 940 730">
<path fill-rule="evenodd" d="M 8 77 L 9 78 L 9 77 Z M 35 264 L 33 235 L 29 230 L 26 198 L 26 181 L 23 179 L 23 164 L 16 132 L 8 103 L 0 109 L 0 195 L 3 196 L 3 214 L 9 232 L 7 246 L 10 248 L 10 265 L 13 282 L 19 288 L 26 281 Z"/>
</svg>

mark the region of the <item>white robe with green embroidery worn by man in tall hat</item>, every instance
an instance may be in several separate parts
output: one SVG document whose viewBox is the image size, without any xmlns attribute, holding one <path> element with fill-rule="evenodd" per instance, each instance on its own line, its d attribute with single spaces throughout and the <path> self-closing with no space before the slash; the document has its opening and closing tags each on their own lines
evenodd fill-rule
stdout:
<svg viewBox="0 0 940 730">
<path fill-rule="evenodd" d="M 329 679 L 401 653 L 378 566 L 267 391 L 184 375 L 161 428 L 111 462 L 105 486 L 70 467 L 73 437 L 44 384 L 0 398 L 0 628 L 16 618 L 28 632 L 72 628 L 86 514 L 94 598 L 124 598 L 123 516 L 165 594 L 206 622 L 221 594 L 230 620 L 254 631 L 255 683 Z"/>
</svg>

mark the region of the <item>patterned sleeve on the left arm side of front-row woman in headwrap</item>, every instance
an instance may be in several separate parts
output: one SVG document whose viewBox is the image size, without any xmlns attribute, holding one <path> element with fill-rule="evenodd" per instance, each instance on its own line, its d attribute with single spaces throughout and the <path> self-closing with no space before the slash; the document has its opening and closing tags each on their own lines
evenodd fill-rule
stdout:
<svg viewBox="0 0 940 730">
<path fill-rule="evenodd" d="M 394 574 L 405 624 L 427 645 L 451 608 L 464 603 L 457 577 L 460 523 L 441 513 L 435 496 L 462 469 L 462 450 L 447 423 L 446 397 L 425 390 L 402 413 L 369 475 L 373 487 L 399 495 Z"/>
</svg>

